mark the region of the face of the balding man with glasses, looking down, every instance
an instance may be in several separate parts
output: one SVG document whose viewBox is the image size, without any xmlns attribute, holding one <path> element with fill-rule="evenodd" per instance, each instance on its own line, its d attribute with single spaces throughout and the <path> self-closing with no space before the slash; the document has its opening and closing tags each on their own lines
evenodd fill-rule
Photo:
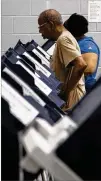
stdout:
<svg viewBox="0 0 101 181">
<path fill-rule="evenodd" d="M 49 22 L 45 22 L 42 18 L 38 19 L 38 24 L 39 24 L 39 33 L 41 33 L 42 37 L 44 39 L 52 39 L 52 30 L 51 30 L 51 25 Z"/>
</svg>

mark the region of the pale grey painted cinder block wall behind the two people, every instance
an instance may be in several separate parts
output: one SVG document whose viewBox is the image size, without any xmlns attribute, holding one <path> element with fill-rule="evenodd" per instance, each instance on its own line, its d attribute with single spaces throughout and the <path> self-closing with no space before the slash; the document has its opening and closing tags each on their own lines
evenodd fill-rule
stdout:
<svg viewBox="0 0 101 181">
<path fill-rule="evenodd" d="M 88 14 L 88 0 L 2 0 L 2 53 L 13 47 L 18 39 L 26 43 L 35 39 L 40 45 L 44 40 L 38 33 L 37 18 L 46 8 L 58 10 L 63 20 L 72 13 Z M 101 23 L 89 24 L 89 35 L 93 36 L 101 49 Z M 98 74 L 101 73 L 101 61 Z"/>
</svg>

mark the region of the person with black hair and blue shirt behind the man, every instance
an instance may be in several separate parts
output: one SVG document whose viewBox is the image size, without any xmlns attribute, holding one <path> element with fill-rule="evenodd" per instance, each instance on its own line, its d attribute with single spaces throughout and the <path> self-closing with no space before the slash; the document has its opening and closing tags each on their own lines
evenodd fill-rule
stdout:
<svg viewBox="0 0 101 181">
<path fill-rule="evenodd" d="M 88 92 L 96 82 L 100 49 L 92 37 L 85 35 L 88 32 L 88 21 L 84 16 L 77 13 L 72 14 L 69 19 L 64 22 L 64 27 L 78 41 L 82 57 L 87 63 L 84 74 L 86 91 Z"/>
</svg>

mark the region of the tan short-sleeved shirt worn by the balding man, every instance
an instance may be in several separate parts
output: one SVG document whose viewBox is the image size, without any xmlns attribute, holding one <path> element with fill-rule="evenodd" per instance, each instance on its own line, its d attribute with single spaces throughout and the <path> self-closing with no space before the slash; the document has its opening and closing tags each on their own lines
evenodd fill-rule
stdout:
<svg viewBox="0 0 101 181">
<path fill-rule="evenodd" d="M 72 61 L 75 61 L 76 57 L 81 56 L 79 45 L 76 39 L 69 31 L 64 31 L 58 38 L 53 56 L 51 59 L 50 67 L 55 72 L 57 79 L 67 84 L 71 81 L 73 72 Z M 68 87 L 69 89 L 69 87 Z M 66 92 L 65 92 L 66 94 Z M 85 82 L 84 75 L 79 80 L 76 87 L 70 92 L 66 101 L 66 106 L 63 110 L 72 108 L 85 94 Z"/>
</svg>

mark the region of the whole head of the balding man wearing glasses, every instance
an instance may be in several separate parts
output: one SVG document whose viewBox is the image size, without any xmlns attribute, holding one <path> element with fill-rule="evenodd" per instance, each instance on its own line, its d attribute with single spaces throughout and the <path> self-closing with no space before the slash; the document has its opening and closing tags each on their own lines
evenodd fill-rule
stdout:
<svg viewBox="0 0 101 181">
<path fill-rule="evenodd" d="M 43 11 L 38 18 L 39 33 L 43 38 L 57 40 L 64 26 L 61 14 L 55 9 Z"/>
</svg>

